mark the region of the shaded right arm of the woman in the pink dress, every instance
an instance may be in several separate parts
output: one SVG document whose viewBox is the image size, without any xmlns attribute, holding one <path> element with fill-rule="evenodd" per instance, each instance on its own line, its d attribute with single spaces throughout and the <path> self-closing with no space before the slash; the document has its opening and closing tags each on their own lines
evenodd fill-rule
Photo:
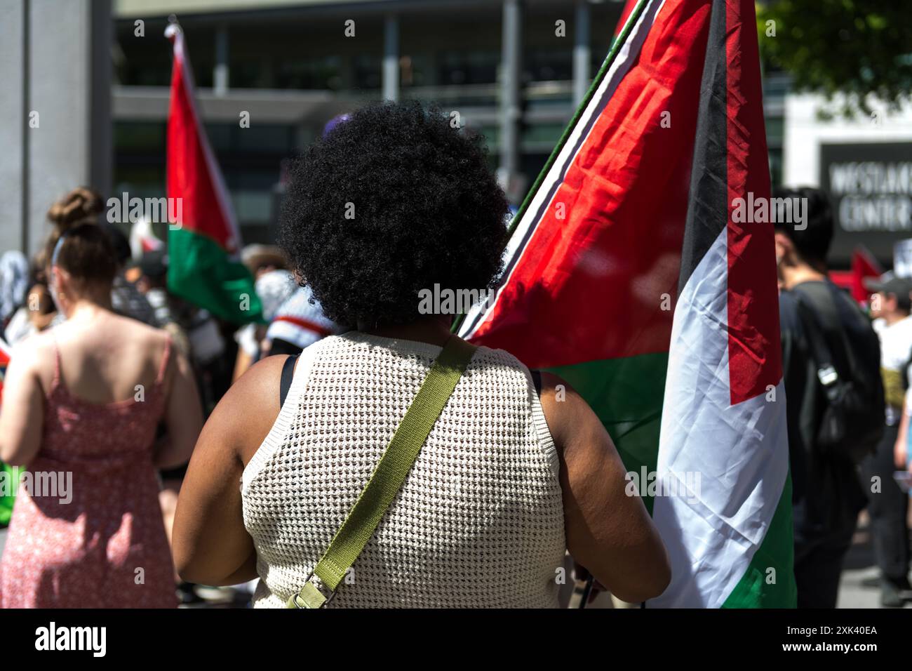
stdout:
<svg viewBox="0 0 912 671">
<path fill-rule="evenodd" d="M 168 431 L 155 447 L 155 466 L 175 468 L 190 461 L 193 446 L 202 429 L 200 394 L 190 363 L 180 351 L 174 350 L 171 360 L 174 369 L 165 406 L 165 425 Z"/>
</svg>

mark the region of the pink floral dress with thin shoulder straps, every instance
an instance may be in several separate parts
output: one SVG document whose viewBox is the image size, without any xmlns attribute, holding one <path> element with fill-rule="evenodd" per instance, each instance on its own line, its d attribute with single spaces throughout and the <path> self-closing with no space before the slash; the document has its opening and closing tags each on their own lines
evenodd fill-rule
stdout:
<svg viewBox="0 0 912 671">
<path fill-rule="evenodd" d="M 16 497 L 0 562 L 0 605 L 176 607 L 152 464 L 171 341 L 144 398 L 110 404 L 69 393 L 56 342 L 54 348 L 41 449 L 23 474 L 24 483 L 30 477 L 35 484 L 31 491 L 20 486 Z"/>
</svg>

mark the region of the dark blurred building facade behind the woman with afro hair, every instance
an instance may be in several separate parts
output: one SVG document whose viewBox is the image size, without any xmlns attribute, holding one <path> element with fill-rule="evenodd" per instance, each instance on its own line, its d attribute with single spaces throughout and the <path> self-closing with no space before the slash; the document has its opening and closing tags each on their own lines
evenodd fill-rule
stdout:
<svg viewBox="0 0 912 671">
<path fill-rule="evenodd" d="M 161 194 L 171 73 L 161 34 L 177 13 L 245 241 L 274 236 L 279 166 L 362 100 L 420 99 L 459 112 L 462 125 L 482 133 L 492 169 L 517 203 L 606 57 L 623 5 L 114 0 L 113 192 Z M 774 176 L 782 155 L 776 90 L 773 81 Z M 241 110 L 250 112 L 249 129 L 239 127 Z"/>
</svg>

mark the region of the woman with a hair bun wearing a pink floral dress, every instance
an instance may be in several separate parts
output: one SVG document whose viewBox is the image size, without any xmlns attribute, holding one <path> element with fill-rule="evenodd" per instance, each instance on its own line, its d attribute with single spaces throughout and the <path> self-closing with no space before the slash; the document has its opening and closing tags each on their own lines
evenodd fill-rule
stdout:
<svg viewBox="0 0 912 671">
<path fill-rule="evenodd" d="M 27 473 L 0 562 L 4 608 L 177 604 L 155 469 L 189 459 L 202 412 L 168 335 L 111 311 L 117 268 L 93 195 L 49 213 L 67 320 L 16 349 L 5 378 L 0 458 Z"/>
</svg>

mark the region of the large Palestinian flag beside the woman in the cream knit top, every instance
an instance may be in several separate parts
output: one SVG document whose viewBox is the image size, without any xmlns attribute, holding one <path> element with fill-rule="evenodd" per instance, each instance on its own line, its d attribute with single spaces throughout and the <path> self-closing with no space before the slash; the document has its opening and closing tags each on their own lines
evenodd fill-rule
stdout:
<svg viewBox="0 0 912 671">
<path fill-rule="evenodd" d="M 791 481 L 751 0 L 639 0 L 459 332 L 564 377 L 672 561 L 649 606 L 795 603 Z M 610 515 L 611 511 L 606 511 Z"/>
</svg>

